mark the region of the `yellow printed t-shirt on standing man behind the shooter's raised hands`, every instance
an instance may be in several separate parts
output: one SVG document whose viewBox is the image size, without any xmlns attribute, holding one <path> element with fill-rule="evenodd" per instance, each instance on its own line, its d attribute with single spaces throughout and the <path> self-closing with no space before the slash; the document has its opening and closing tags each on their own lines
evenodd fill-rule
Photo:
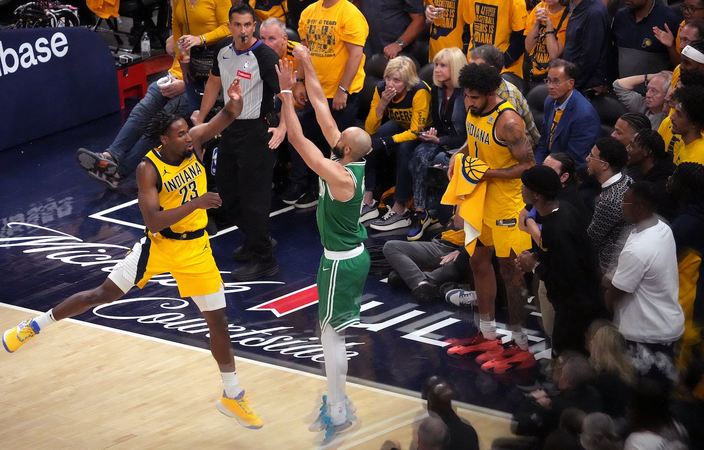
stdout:
<svg viewBox="0 0 704 450">
<path fill-rule="evenodd" d="M 369 35 L 367 20 L 349 1 L 341 0 L 332 8 L 323 8 L 322 0 L 318 0 L 301 13 L 298 35 L 310 49 L 310 59 L 325 96 L 332 99 L 349 57 L 345 43 L 364 46 Z M 365 57 L 362 56 L 352 84 L 347 88 L 351 93 L 362 90 L 364 62 Z"/>
</svg>

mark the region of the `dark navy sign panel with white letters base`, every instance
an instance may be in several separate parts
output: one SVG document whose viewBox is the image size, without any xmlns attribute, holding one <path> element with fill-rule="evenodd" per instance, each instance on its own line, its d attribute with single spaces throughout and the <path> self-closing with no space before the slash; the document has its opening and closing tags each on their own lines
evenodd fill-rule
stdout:
<svg viewBox="0 0 704 450">
<path fill-rule="evenodd" d="M 0 150 L 119 110 L 115 62 L 95 32 L 0 30 Z"/>
</svg>

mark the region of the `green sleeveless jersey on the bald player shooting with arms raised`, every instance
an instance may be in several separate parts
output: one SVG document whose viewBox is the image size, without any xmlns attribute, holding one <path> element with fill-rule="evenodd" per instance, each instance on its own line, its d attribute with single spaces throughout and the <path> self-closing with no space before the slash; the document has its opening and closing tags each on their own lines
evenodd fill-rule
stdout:
<svg viewBox="0 0 704 450">
<path fill-rule="evenodd" d="M 334 157 L 332 160 L 338 161 Z M 354 195 L 348 201 L 334 199 L 327 182 L 322 178 L 318 180 L 318 230 L 320 242 L 328 250 L 351 250 L 367 239 L 367 230 L 359 222 L 364 196 L 364 165 L 364 160 L 345 165 L 355 185 Z"/>
</svg>

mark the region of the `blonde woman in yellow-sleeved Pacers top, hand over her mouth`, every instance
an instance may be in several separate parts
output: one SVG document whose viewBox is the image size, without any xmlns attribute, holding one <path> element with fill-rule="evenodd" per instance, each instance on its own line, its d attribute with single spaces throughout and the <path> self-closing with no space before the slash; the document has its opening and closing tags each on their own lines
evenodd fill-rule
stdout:
<svg viewBox="0 0 704 450">
<path fill-rule="evenodd" d="M 372 136 L 372 151 L 365 166 L 366 192 L 362 205 L 362 220 L 379 215 L 374 190 L 377 187 L 377 156 L 396 154 L 396 189 L 394 206 L 371 223 L 375 230 L 396 230 L 410 225 L 406 203 L 411 199 L 411 178 L 408 161 L 417 144 L 419 132 L 425 131 L 429 120 L 430 87 L 415 70 L 408 56 L 396 56 L 384 70 L 372 96 L 372 105 L 365 121 L 365 130 Z M 382 125 L 382 121 L 385 122 Z"/>
</svg>

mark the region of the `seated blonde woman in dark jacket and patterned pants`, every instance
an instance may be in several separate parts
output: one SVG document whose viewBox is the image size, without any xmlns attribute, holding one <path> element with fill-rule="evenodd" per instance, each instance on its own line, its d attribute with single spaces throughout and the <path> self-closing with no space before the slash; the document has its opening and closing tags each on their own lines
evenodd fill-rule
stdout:
<svg viewBox="0 0 704 450">
<path fill-rule="evenodd" d="M 408 240 L 420 239 L 428 226 L 438 224 L 435 208 L 439 199 L 427 204 L 428 166 L 440 151 L 458 149 L 467 139 L 464 96 L 458 84 L 460 69 L 467 63 L 457 47 L 442 49 L 433 58 L 433 87 L 430 91 L 430 113 L 433 126 L 418 135 L 421 144 L 415 147 L 410 159 L 413 178 L 413 206 Z M 427 210 L 427 211 L 426 211 Z"/>
</svg>

